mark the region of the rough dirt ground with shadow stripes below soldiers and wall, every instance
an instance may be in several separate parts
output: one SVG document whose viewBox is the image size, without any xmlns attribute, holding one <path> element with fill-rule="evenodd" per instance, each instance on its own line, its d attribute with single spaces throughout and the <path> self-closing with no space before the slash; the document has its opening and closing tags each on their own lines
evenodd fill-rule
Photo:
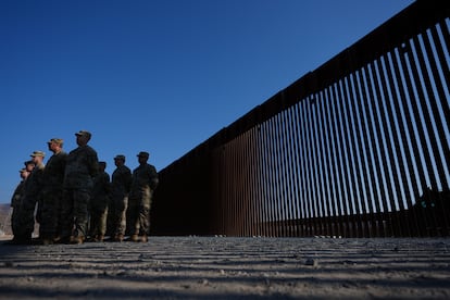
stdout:
<svg viewBox="0 0 450 300">
<path fill-rule="evenodd" d="M 449 299 L 450 239 L 151 237 L 9 246 L 0 298 Z"/>
</svg>

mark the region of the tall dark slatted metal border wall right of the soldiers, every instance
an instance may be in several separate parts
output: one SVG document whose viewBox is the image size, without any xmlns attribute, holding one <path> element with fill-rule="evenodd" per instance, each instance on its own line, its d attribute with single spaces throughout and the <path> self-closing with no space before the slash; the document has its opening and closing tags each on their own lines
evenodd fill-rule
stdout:
<svg viewBox="0 0 450 300">
<path fill-rule="evenodd" d="M 449 16 L 412 3 L 162 170 L 152 234 L 449 236 Z"/>
</svg>

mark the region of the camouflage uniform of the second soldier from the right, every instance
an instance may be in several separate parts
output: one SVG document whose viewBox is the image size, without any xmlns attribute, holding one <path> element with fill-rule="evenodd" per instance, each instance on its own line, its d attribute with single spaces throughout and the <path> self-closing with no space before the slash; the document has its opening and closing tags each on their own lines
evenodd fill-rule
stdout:
<svg viewBox="0 0 450 300">
<path fill-rule="evenodd" d="M 112 235 L 118 238 L 125 235 L 126 211 L 128 207 L 128 193 L 132 187 L 132 170 L 126 165 L 117 166 L 112 174 L 111 190 L 111 218 Z"/>
</svg>

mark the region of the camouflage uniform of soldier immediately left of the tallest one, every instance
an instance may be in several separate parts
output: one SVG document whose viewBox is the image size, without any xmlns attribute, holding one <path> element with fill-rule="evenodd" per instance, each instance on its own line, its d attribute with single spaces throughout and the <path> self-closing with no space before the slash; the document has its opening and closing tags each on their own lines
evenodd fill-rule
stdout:
<svg viewBox="0 0 450 300">
<path fill-rule="evenodd" d="M 53 240 L 59 235 L 59 217 L 63 195 L 64 168 L 67 153 L 51 155 L 43 171 L 42 205 L 40 209 L 39 237 Z"/>
</svg>

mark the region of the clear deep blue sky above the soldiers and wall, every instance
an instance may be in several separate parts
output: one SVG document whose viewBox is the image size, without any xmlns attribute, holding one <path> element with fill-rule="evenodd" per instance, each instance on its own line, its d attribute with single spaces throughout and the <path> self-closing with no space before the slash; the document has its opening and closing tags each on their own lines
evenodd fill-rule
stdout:
<svg viewBox="0 0 450 300">
<path fill-rule="evenodd" d="M 47 141 L 160 171 L 411 0 L 1 0 L 0 203 Z"/>
</svg>

